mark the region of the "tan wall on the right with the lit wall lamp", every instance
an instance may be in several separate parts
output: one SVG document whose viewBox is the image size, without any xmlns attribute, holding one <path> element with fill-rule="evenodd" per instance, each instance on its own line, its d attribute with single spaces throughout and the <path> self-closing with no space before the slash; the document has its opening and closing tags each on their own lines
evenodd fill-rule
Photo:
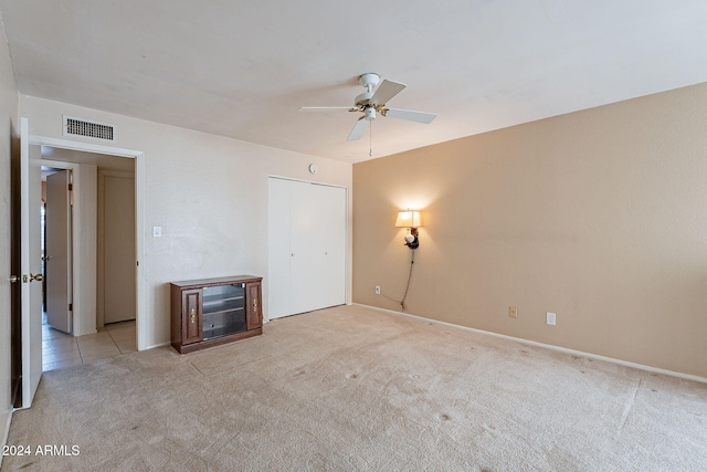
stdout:
<svg viewBox="0 0 707 472">
<path fill-rule="evenodd" d="M 354 302 L 400 308 L 419 208 L 409 313 L 707 377 L 706 124 L 701 84 L 355 165 Z"/>
</svg>

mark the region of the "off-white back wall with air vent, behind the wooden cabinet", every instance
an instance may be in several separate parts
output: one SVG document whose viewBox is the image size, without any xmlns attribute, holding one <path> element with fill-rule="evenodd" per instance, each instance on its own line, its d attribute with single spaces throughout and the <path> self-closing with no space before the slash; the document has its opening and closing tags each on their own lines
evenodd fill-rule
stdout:
<svg viewBox="0 0 707 472">
<path fill-rule="evenodd" d="M 20 115 L 29 118 L 31 135 L 67 139 L 63 114 L 115 125 L 113 146 L 145 153 L 145 233 L 139 237 L 147 347 L 169 342 L 170 281 L 263 275 L 267 314 L 268 175 L 351 186 L 350 164 L 20 96 Z M 314 178 L 310 162 L 319 167 Z M 156 225 L 161 238 L 152 238 Z"/>
</svg>

